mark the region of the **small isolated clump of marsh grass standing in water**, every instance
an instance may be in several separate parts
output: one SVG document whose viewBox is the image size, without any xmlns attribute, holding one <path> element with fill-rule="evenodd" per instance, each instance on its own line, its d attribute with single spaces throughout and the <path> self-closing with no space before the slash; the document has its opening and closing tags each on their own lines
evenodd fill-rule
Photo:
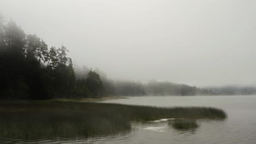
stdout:
<svg viewBox="0 0 256 144">
<path fill-rule="evenodd" d="M 168 124 L 178 130 L 195 129 L 199 127 L 195 119 L 170 119 L 168 120 Z"/>
</svg>

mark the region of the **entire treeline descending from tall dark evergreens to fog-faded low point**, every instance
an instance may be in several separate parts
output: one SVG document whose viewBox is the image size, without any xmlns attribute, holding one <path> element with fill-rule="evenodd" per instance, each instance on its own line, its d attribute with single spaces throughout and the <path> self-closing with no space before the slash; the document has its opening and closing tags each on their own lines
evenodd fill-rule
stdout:
<svg viewBox="0 0 256 144">
<path fill-rule="evenodd" d="M 0 16 L 0 98 L 100 98 L 110 95 L 212 95 L 171 82 L 113 81 L 100 70 L 73 68 L 67 47 L 49 47 Z M 101 76 L 101 77 L 100 77 Z"/>
</svg>

